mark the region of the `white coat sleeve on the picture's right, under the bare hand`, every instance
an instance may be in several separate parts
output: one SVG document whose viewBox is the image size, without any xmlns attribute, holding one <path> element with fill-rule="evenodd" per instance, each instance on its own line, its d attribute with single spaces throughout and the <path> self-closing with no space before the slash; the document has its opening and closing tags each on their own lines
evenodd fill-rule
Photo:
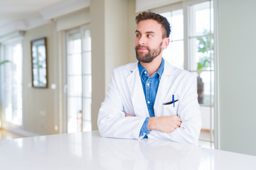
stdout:
<svg viewBox="0 0 256 170">
<path fill-rule="evenodd" d="M 181 127 L 171 133 L 151 130 L 149 137 L 169 140 L 171 142 L 198 144 L 202 120 L 196 91 L 196 77 L 188 77 L 184 83 L 181 100 L 178 105 L 178 116 L 181 118 Z"/>
</svg>

